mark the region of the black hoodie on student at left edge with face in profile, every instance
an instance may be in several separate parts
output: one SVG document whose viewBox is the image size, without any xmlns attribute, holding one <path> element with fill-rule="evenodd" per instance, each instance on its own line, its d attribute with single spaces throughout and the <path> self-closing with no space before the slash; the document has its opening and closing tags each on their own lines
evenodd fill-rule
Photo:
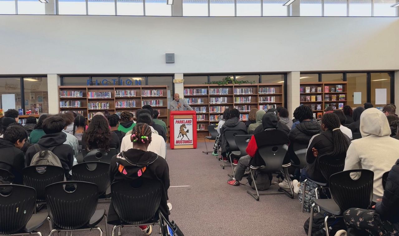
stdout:
<svg viewBox="0 0 399 236">
<path fill-rule="evenodd" d="M 14 143 L 0 138 L 0 168 L 12 174 L 8 180 L 14 184 L 22 184 L 22 169 L 25 167 L 24 153 Z M 3 182 L 6 184 L 6 182 Z"/>
</svg>

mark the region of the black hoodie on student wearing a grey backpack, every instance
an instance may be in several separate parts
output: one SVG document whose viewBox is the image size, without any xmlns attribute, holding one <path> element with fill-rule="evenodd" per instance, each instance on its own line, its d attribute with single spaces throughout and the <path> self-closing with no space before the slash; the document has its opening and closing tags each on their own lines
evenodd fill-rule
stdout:
<svg viewBox="0 0 399 236">
<path fill-rule="evenodd" d="M 43 151 L 49 149 L 50 147 L 55 147 L 53 149 L 53 153 L 59 158 L 59 161 L 61 161 L 61 165 L 65 171 L 65 177 L 67 180 L 72 180 L 71 175 L 69 175 L 69 171 L 72 169 L 73 165 L 73 149 L 70 145 L 63 144 L 66 140 L 67 135 L 63 132 L 59 132 L 43 135 L 38 144 L 40 145 L 40 149 Z M 30 162 L 36 153 L 36 149 L 33 145 L 28 148 L 28 151 L 26 151 L 25 155 L 26 166 L 30 166 Z"/>
</svg>

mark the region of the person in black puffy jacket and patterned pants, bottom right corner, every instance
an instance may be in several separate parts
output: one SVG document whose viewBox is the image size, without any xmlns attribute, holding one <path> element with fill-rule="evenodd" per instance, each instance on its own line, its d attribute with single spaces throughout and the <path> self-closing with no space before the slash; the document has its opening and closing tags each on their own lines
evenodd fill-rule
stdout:
<svg viewBox="0 0 399 236">
<path fill-rule="evenodd" d="M 344 220 L 350 235 L 398 235 L 399 234 L 399 159 L 389 171 L 382 199 L 372 206 L 373 210 L 350 208 Z"/>
</svg>

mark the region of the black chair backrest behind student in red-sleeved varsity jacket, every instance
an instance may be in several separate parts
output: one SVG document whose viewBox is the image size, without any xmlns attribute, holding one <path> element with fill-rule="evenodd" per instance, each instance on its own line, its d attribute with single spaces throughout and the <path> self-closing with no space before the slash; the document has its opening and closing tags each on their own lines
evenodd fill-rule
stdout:
<svg viewBox="0 0 399 236">
<path fill-rule="evenodd" d="M 272 172 L 274 173 L 280 171 L 287 150 L 288 150 L 288 145 L 286 144 L 261 147 L 258 149 L 258 152 L 259 155 L 261 155 L 263 161 L 265 162 L 265 166 L 254 167 L 251 165 L 251 168 L 253 169 L 259 168 L 268 173 Z"/>
</svg>

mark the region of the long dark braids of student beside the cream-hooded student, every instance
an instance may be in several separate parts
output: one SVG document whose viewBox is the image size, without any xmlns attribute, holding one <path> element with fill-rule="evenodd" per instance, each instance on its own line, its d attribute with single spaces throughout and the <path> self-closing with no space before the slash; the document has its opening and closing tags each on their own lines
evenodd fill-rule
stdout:
<svg viewBox="0 0 399 236">
<path fill-rule="evenodd" d="M 331 130 L 333 133 L 334 150 L 332 151 L 331 155 L 336 156 L 346 153 L 350 143 L 340 130 L 340 118 L 338 118 L 338 116 L 334 113 L 324 114 L 322 117 L 322 124 L 324 124 L 326 128 Z"/>
</svg>

